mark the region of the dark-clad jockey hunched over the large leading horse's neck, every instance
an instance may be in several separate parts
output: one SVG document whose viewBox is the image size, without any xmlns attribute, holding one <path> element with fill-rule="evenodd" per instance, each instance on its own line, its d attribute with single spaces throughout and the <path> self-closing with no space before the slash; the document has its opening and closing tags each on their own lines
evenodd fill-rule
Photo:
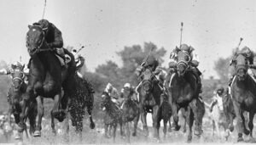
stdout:
<svg viewBox="0 0 256 145">
<path fill-rule="evenodd" d="M 66 56 L 63 49 L 63 39 L 61 35 L 61 31 L 48 20 L 39 20 L 37 23 L 33 23 L 33 25 L 39 25 L 44 30 L 44 39 L 47 42 L 48 47 L 55 50 L 57 53 L 57 57 L 61 61 L 61 66 L 67 67 Z M 63 61 L 62 61 L 63 60 Z M 30 66 L 31 59 L 29 61 Z"/>
</svg>

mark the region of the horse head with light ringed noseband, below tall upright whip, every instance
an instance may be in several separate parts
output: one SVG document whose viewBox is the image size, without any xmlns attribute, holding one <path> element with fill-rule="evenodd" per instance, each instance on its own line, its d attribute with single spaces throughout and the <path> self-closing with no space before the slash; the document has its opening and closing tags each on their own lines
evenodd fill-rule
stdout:
<svg viewBox="0 0 256 145">
<path fill-rule="evenodd" d="M 191 57 L 189 53 L 185 51 L 179 51 L 177 53 L 177 74 L 183 76 L 186 70 L 189 68 L 189 62 Z"/>
</svg>

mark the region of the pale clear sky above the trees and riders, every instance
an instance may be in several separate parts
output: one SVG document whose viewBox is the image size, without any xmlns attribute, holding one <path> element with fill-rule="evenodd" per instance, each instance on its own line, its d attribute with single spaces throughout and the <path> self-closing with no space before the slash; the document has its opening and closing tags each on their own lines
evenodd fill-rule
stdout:
<svg viewBox="0 0 256 145">
<path fill-rule="evenodd" d="M 81 47 L 87 68 L 113 60 L 125 46 L 153 42 L 167 50 L 165 60 L 180 42 L 195 47 L 205 77 L 219 57 L 228 57 L 243 37 L 241 47 L 256 49 L 254 0 L 47 0 L 44 18 L 61 31 L 65 46 Z M 44 0 L 0 1 L 0 59 L 29 59 L 27 25 L 43 18 Z M 163 64 L 167 66 L 167 63 Z"/>
</svg>

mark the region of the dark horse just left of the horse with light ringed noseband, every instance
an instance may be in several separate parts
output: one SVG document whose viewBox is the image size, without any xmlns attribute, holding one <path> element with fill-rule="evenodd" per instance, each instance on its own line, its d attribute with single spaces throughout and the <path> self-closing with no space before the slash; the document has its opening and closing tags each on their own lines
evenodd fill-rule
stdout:
<svg viewBox="0 0 256 145">
<path fill-rule="evenodd" d="M 159 141 L 160 120 L 162 118 L 167 118 L 166 121 L 164 121 L 167 123 L 171 115 L 168 117 L 162 116 L 168 114 L 169 110 L 166 110 L 166 114 L 162 113 L 163 110 L 161 107 L 161 103 L 164 102 L 164 96 L 161 95 L 162 90 L 160 88 L 160 85 L 158 84 L 158 81 L 155 81 L 156 78 L 154 76 L 154 73 L 149 69 L 145 69 L 142 75 L 142 85 L 137 89 L 137 92 L 139 92 L 139 109 L 141 114 L 141 120 L 143 122 L 143 131 L 145 131 L 145 135 L 148 136 L 148 125 L 146 116 L 148 113 L 152 113 L 154 137 Z"/>
</svg>

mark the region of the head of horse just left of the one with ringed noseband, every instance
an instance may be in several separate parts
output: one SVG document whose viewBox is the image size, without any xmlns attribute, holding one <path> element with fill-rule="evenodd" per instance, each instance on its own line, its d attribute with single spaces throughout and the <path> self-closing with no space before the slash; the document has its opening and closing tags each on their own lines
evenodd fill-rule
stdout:
<svg viewBox="0 0 256 145">
<path fill-rule="evenodd" d="M 143 72 L 142 88 L 143 88 L 143 91 L 146 92 L 146 94 L 149 94 L 153 89 L 153 83 L 152 83 L 153 77 L 154 77 L 154 74 L 151 70 L 146 69 Z"/>
</svg>

